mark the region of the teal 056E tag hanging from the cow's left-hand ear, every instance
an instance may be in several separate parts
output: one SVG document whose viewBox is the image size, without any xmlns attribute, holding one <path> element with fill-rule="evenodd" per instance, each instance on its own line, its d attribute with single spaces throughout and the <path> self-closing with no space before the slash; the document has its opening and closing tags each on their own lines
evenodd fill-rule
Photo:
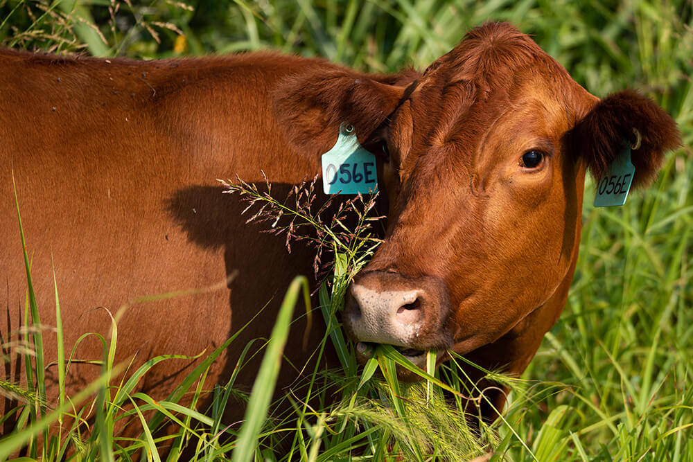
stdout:
<svg viewBox="0 0 693 462">
<path fill-rule="evenodd" d="M 376 157 L 365 150 L 352 125 L 342 125 L 337 143 L 322 154 L 325 194 L 369 194 L 378 188 Z"/>
</svg>

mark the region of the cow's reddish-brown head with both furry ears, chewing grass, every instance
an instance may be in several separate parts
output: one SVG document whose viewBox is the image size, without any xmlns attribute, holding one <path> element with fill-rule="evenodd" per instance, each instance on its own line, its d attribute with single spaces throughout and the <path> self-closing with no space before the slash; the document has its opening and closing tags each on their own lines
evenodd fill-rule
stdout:
<svg viewBox="0 0 693 462">
<path fill-rule="evenodd" d="M 344 326 L 362 354 L 392 344 L 421 366 L 426 350 L 477 350 L 519 373 L 565 305 L 586 170 L 598 177 L 635 130 L 644 186 L 676 125 L 635 91 L 592 96 L 507 24 L 472 30 L 413 78 L 306 73 L 277 103 L 301 152 L 328 150 L 343 123 L 387 148 L 385 241 Z"/>
</svg>

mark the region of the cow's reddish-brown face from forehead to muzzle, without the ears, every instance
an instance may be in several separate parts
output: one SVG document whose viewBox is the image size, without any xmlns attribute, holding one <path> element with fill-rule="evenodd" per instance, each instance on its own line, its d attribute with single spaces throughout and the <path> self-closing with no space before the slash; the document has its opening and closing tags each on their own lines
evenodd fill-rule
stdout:
<svg viewBox="0 0 693 462">
<path fill-rule="evenodd" d="M 476 42 L 435 62 L 392 117 L 387 235 L 344 314 L 353 339 L 418 363 L 505 335 L 577 256 L 584 163 L 563 136 L 596 98 L 538 48 L 512 66 L 504 52 L 522 48 Z"/>
</svg>

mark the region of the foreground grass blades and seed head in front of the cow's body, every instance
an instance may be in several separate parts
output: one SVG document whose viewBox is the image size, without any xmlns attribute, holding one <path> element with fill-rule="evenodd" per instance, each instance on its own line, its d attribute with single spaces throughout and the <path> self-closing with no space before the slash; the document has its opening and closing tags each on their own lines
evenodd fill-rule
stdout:
<svg viewBox="0 0 693 462">
<path fill-rule="evenodd" d="M 212 384 L 213 404 L 206 409 L 207 414 L 200 414 L 195 410 L 196 402 L 205 393 L 204 376 L 207 368 L 222 350 L 233 344 L 240 332 L 205 357 L 168 398 L 155 401 L 137 391 L 137 383 L 155 364 L 182 357 L 157 356 L 132 372 L 126 364 L 114 364 L 118 313 L 112 317 L 109 336 L 100 337 L 103 343 L 103 373 L 100 378 L 74 396 L 64 393 L 64 380 L 59 379 L 62 389 L 59 403 L 55 409 L 49 410 L 44 399 L 45 378 L 40 373 L 43 368 L 41 329 L 36 328 L 33 330 L 35 337 L 27 341 L 36 355 L 16 352 L 26 359 L 26 389 L 20 388 L 19 393 L 15 393 L 20 398 L 21 416 L 11 434 L 0 439 L 0 460 L 5 460 L 18 450 L 25 450 L 28 457 L 17 460 L 58 461 L 67 458 L 114 461 L 131 460 L 138 454 L 141 459 L 154 461 L 161 460 L 161 455 L 165 455 L 166 460 L 175 461 L 183 454 L 186 454 L 185 460 L 192 457 L 194 460 L 205 461 L 226 460 L 227 456 L 230 456 L 231 461 L 317 461 L 332 460 L 334 457 L 351 458 L 356 454 L 366 459 L 387 460 L 390 454 L 401 454 L 407 460 L 424 461 L 431 456 L 444 460 L 462 460 L 489 449 L 489 443 L 484 443 L 484 440 L 492 440 L 493 434 L 487 433 L 482 439 L 473 434 L 468 427 L 468 419 L 464 417 L 464 402 L 459 400 L 457 407 L 450 407 L 442 393 L 446 390 L 456 396 L 462 396 L 463 393 L 468 396 L 471 391 L 463 389 L 464 385 L 460 380 L 442 382 L 439 377 L 431 375 L 435 357 L 430 358 L 431 366 L 426 373 L 412 366 L 394 348 L 383 346 L 378 347 L 373 359 L 363 371 L 359 371 L 353 354 L 349 353 L 350 348 L 335 323 L 335 312 L 344 305 L 344 294 L 349 281 L 365 263 L 365 258 L 374 251 L 368 234 L 369 226 L 366 225 L 369 222 L 367 211 L 371 210 L 374 198 L 353 201 L 353 210 L 360 216 L 355 231 L 336 230 L 322 224 L 324 220 L 317 220 L 317 217 L 306 214 L 310 208 L 302 208 L 299 202 L 296 208 L 287 208 L 269 194 L 258 196 L 256 188 L 247 184 L 226 185 L 236 192 L 248 195 L 253 203 L 259 202 L 261 208 L 268 209 L 268 216 L 276 216 L 281 210 L 285 215 L 295 215 L 298 220 L 317 226 L 330 236 L 328 247 L 337 251 L 334 274 L 331 288 L 328 289 L 328 285 L 324 283 L 319 291 L 320 310 L 328 330 L 314 354 L 318 355 L 315 363 L 320 364 L 319 355 L 322 355 L 330 342 L 329 347 L 334 346 L 339 352 L 344 370 L 336 373 L 320 371 L 316 366 L 313 373 L 308 375 L 304 386 L 293 387 L 291 396 L 282 398 L 291 400 L 293 412 L 288 415 L 270 414 L 270 408 L 278 405 L 278 402 L 272 403 L 272 398 L 279 374 L 279 359 L 292 323 L 292 311 L 301 294 L 310 313 L 309 286 L 304 276 L 295 278 L 281 304 L 272 335 L 265 344 L 263 361 L 247 402 L 245 421 L 240 432 L 231 430 L 221 420 L 229 396 L 234 393 L 234 381 L 240 370 L 238 367 L 224 387 Z M 314 185 L 315 183 L 311 184 L 311 193 Z M 339 219 L 344 218 L 343 215 L 337 216 Z M 19 204 L 17 218 L 21 231 Z M 302 226 L 301 221 L 294 220 L 293 223 L 299 228 Z M 35 294 L 23 234 L 20 238 L 24 248 L 27 299 L 30 305 L 35 300 Z M 153 298 L 177 295 L 179 294 L 164 294 Z M 152 297 L 147 298 L 150 299 Z M 33 305 L 35 307 L 35 303 Z M 60 319 L 57 288 L 55 310 Z M 37 308 L 33 312 L 37 313 Z M 37 319 L 37 315 L 31 316 L 25 319 L 25 323 L 35 324 Z M 58 321 L 59 342 L 62 339 L 62 329 Z M 245 346 L 239 364 L 243 362 L 251 344 Z M 62 350 L 60 346 L 59 349 Z M 60 356 L 64 357 L 64 351 Z M 66 375 L 69 365 L 69 360 L 58 361 L 59 377 Z M 399 384 L 396 377 L 397 366 L 418 373 L 425 379 L 425 384 Z M 380 370 L 383 380 L 374 376 L 376 369 Z M 121 371 L 124 375 L 117 379 Z M 193 391 L 192 403 L 182 405 L 181 398 L 195 383 L 197 387 Z M 342 387 L 343 399 L 341 403 L 331 405 L 331 389 L 337 385 Z M 0 384 L 3 391 L 17 391 L 18 388 L 16 384 L 8 382 Z M 28 400 L 27 396 L 35 398 Z M 316 407 L 315 402 L 319 406 Z M 37 407 L 41 413 L 36 411 Z M 154 414 L 152 411 L 155 411 Z M 119 423 L 132 418 L 139 420 L 141 425 L 139 438 L 119 436 L 116 432 Z M 70 419 L 74 423 L 67 424 Z M 172 433 L 158 436 L 162 424 L 173 424 L 175 429 Z M 49 425 L 53 425 L 54 431 L 51 434 Z M 192 453 L 184 453 L 186 447 L 192 448 Z"/>
</svg>

